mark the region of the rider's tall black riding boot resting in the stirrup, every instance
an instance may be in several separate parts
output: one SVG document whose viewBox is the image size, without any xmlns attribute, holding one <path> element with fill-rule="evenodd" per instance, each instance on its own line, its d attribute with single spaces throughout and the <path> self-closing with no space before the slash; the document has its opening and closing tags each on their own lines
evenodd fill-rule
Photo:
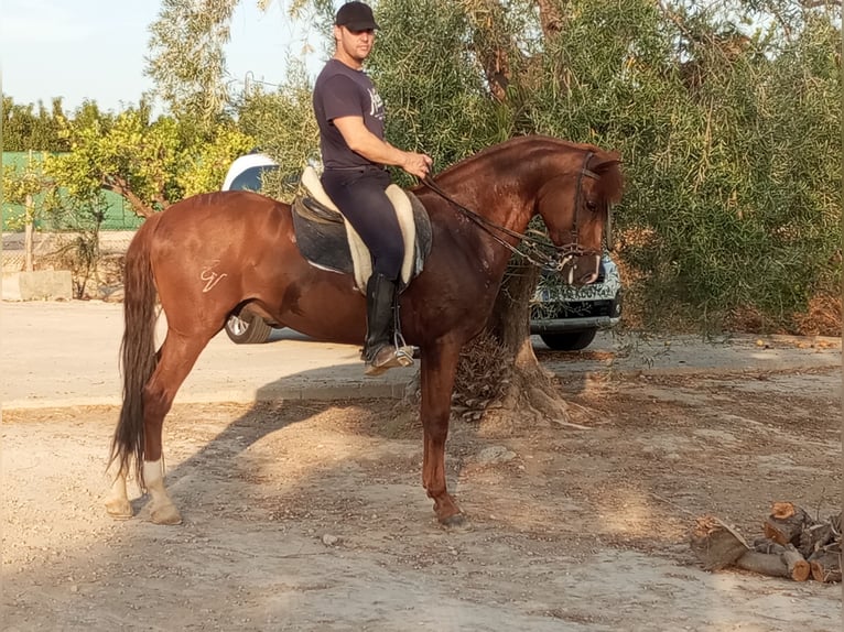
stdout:
<svg viewBox="0 0 844 632">
<path fill-rule="evenodd" d="M 393 367 L 409 367 L 413 355 L 407 347 L 397 347 L 398 320 L 397 282 L 374 273 L 366 284 L 366 341 L 364 360 L 366 374 L 378 375 Z"/>
</svg>

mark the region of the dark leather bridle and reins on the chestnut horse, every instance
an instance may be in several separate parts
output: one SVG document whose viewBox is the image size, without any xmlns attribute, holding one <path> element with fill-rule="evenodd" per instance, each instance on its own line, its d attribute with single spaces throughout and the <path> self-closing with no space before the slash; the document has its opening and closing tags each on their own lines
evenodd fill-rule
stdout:
<svg viewBox="0 0 844 632">
<path fill-rule="evenodd" d="M 442 197 L 448 204 L 454 206 L 457 210 L 459 210 L 464 215 L 464 217 L 466 217 L 469 221 L 472 221 L 473 224 L 478 226 L 480 229 L 483 229 L 495 241 L 504 246 L 507 250 L 509 250 L 513 254 L 518 254 L 522 257 L 528 263 L 535 265 L 537 268 L 560 271 L 563 269 L 565 263 L 572 257 L 582 257 L 584 254 L 597 254 L 597 255 L 602 254 L 600 250 L 583 248 L 580 244 L 580 235 L 578 235 L 580 213 L 581 213 L 581 207 L 583 206 L 581 200 L 581 194 L 583 192 L 583 178 L 589 177 L 593 179 L 600 179 L 600 176 L 597 173 L 588 168 L 588 164 L 593 155 L 595 155 L 594 152 L 586 152 L 586 157 L 584 159 L 583 165 L 581 166 L 581 171 L 577 174 L 577 186 L 574 193 L 574 220 L 572 222 L 572 230 L 571 230 L 572 241 L 571 243 L 565 243 L 563 246 L 552 244 L 551 248 L 553 249 L 553 253 L 551 254 L 547 252 L 549 249 L 549 244 L 548 244 L 548 238 L 545 237 L 544 232 L 531 230 L 526 233 L 521 233 L 515 230 L 510 230 L 509 228 L 500 226 L 487 219 L 486 217 L 478 215 L 474 210 L 466 208 L 461 203 L 456 201 L 447 193 L 445 193 L 442 188 L 440 188 L 440 185 L 437 185 L 430 176 L 423 178 L 422 184 L 424 184 L 428 188 L 433 190 L 436 195 Z M 609 230 L 610 230 L 609 215 L 610 215 L 609 208 L 607 208 L 607 221 L 606 221 L 607 243 L 612 243 L 610 235 L 609 235 Z M 519 249 L 512 246 L 507 240 L 505 240 L 501 236 L 507 236 L 507 237 L 512 237 L 518 239 L 522 249 Z"/>
</svg>

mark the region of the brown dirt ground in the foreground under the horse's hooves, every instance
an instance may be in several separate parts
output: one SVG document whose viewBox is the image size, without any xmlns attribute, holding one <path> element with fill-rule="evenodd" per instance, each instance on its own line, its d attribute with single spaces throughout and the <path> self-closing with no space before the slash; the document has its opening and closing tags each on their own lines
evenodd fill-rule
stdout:
<svg viewBox="0 0 844 632">
<path fill-rule="evenodd" d="M 840 630 L 841 586 L 701 570 L 713 513 L 841 505 L 840 369 L 615 375 L 572 421 L 452 424 L 470 527 L 433 521 L 391 401 L 182 405 L 185 523 L 105 514 L 111 407 L 6 413 L 3 630 Z"/>
</svg>

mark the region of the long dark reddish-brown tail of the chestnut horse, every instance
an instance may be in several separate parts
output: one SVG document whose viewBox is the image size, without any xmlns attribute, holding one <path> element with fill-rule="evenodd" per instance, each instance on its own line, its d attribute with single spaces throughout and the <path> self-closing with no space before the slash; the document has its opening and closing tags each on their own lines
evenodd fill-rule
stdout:
<svg viewBox="0 0 844 632">
<path fill-rule="evenodd" d="M 160 216 L 148 218 L 126 253 L 123 268 L 123 339 L 120 367 L 123 375 L 123 405 L 111 440 L 111 459 L 119 472 L 134 475 L 142 482 L 144 454 L 143 389 L 155 370 L 155 281 L 150 263 L 150 243 Z"/>
</svg>

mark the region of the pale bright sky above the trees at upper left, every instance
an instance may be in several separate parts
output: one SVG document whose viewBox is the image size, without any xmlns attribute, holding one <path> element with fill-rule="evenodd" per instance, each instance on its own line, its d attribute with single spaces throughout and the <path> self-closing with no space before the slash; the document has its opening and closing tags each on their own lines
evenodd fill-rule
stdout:
<svg viewBox="0 0 844 632">
<path fill-rule="evenodd" d="M 149 26 L 159 0 L 0 0 L 2 91 L 15 103 L 63 97 L 65 111 L 85 99 L 101 110 L 137 105 L 152 88 L 143 75 Z M 231 21 L 226 58 L 235 87 L 250 79 L 279 84 L 285 59 L 300 56 L 305 44 L 317 50 L 309 69 L 321 64 L 322 41 L 306 26 L 294 25 L 282 3 L 267 11 L 257 0 L 240 0 Z"/>
</svg>

